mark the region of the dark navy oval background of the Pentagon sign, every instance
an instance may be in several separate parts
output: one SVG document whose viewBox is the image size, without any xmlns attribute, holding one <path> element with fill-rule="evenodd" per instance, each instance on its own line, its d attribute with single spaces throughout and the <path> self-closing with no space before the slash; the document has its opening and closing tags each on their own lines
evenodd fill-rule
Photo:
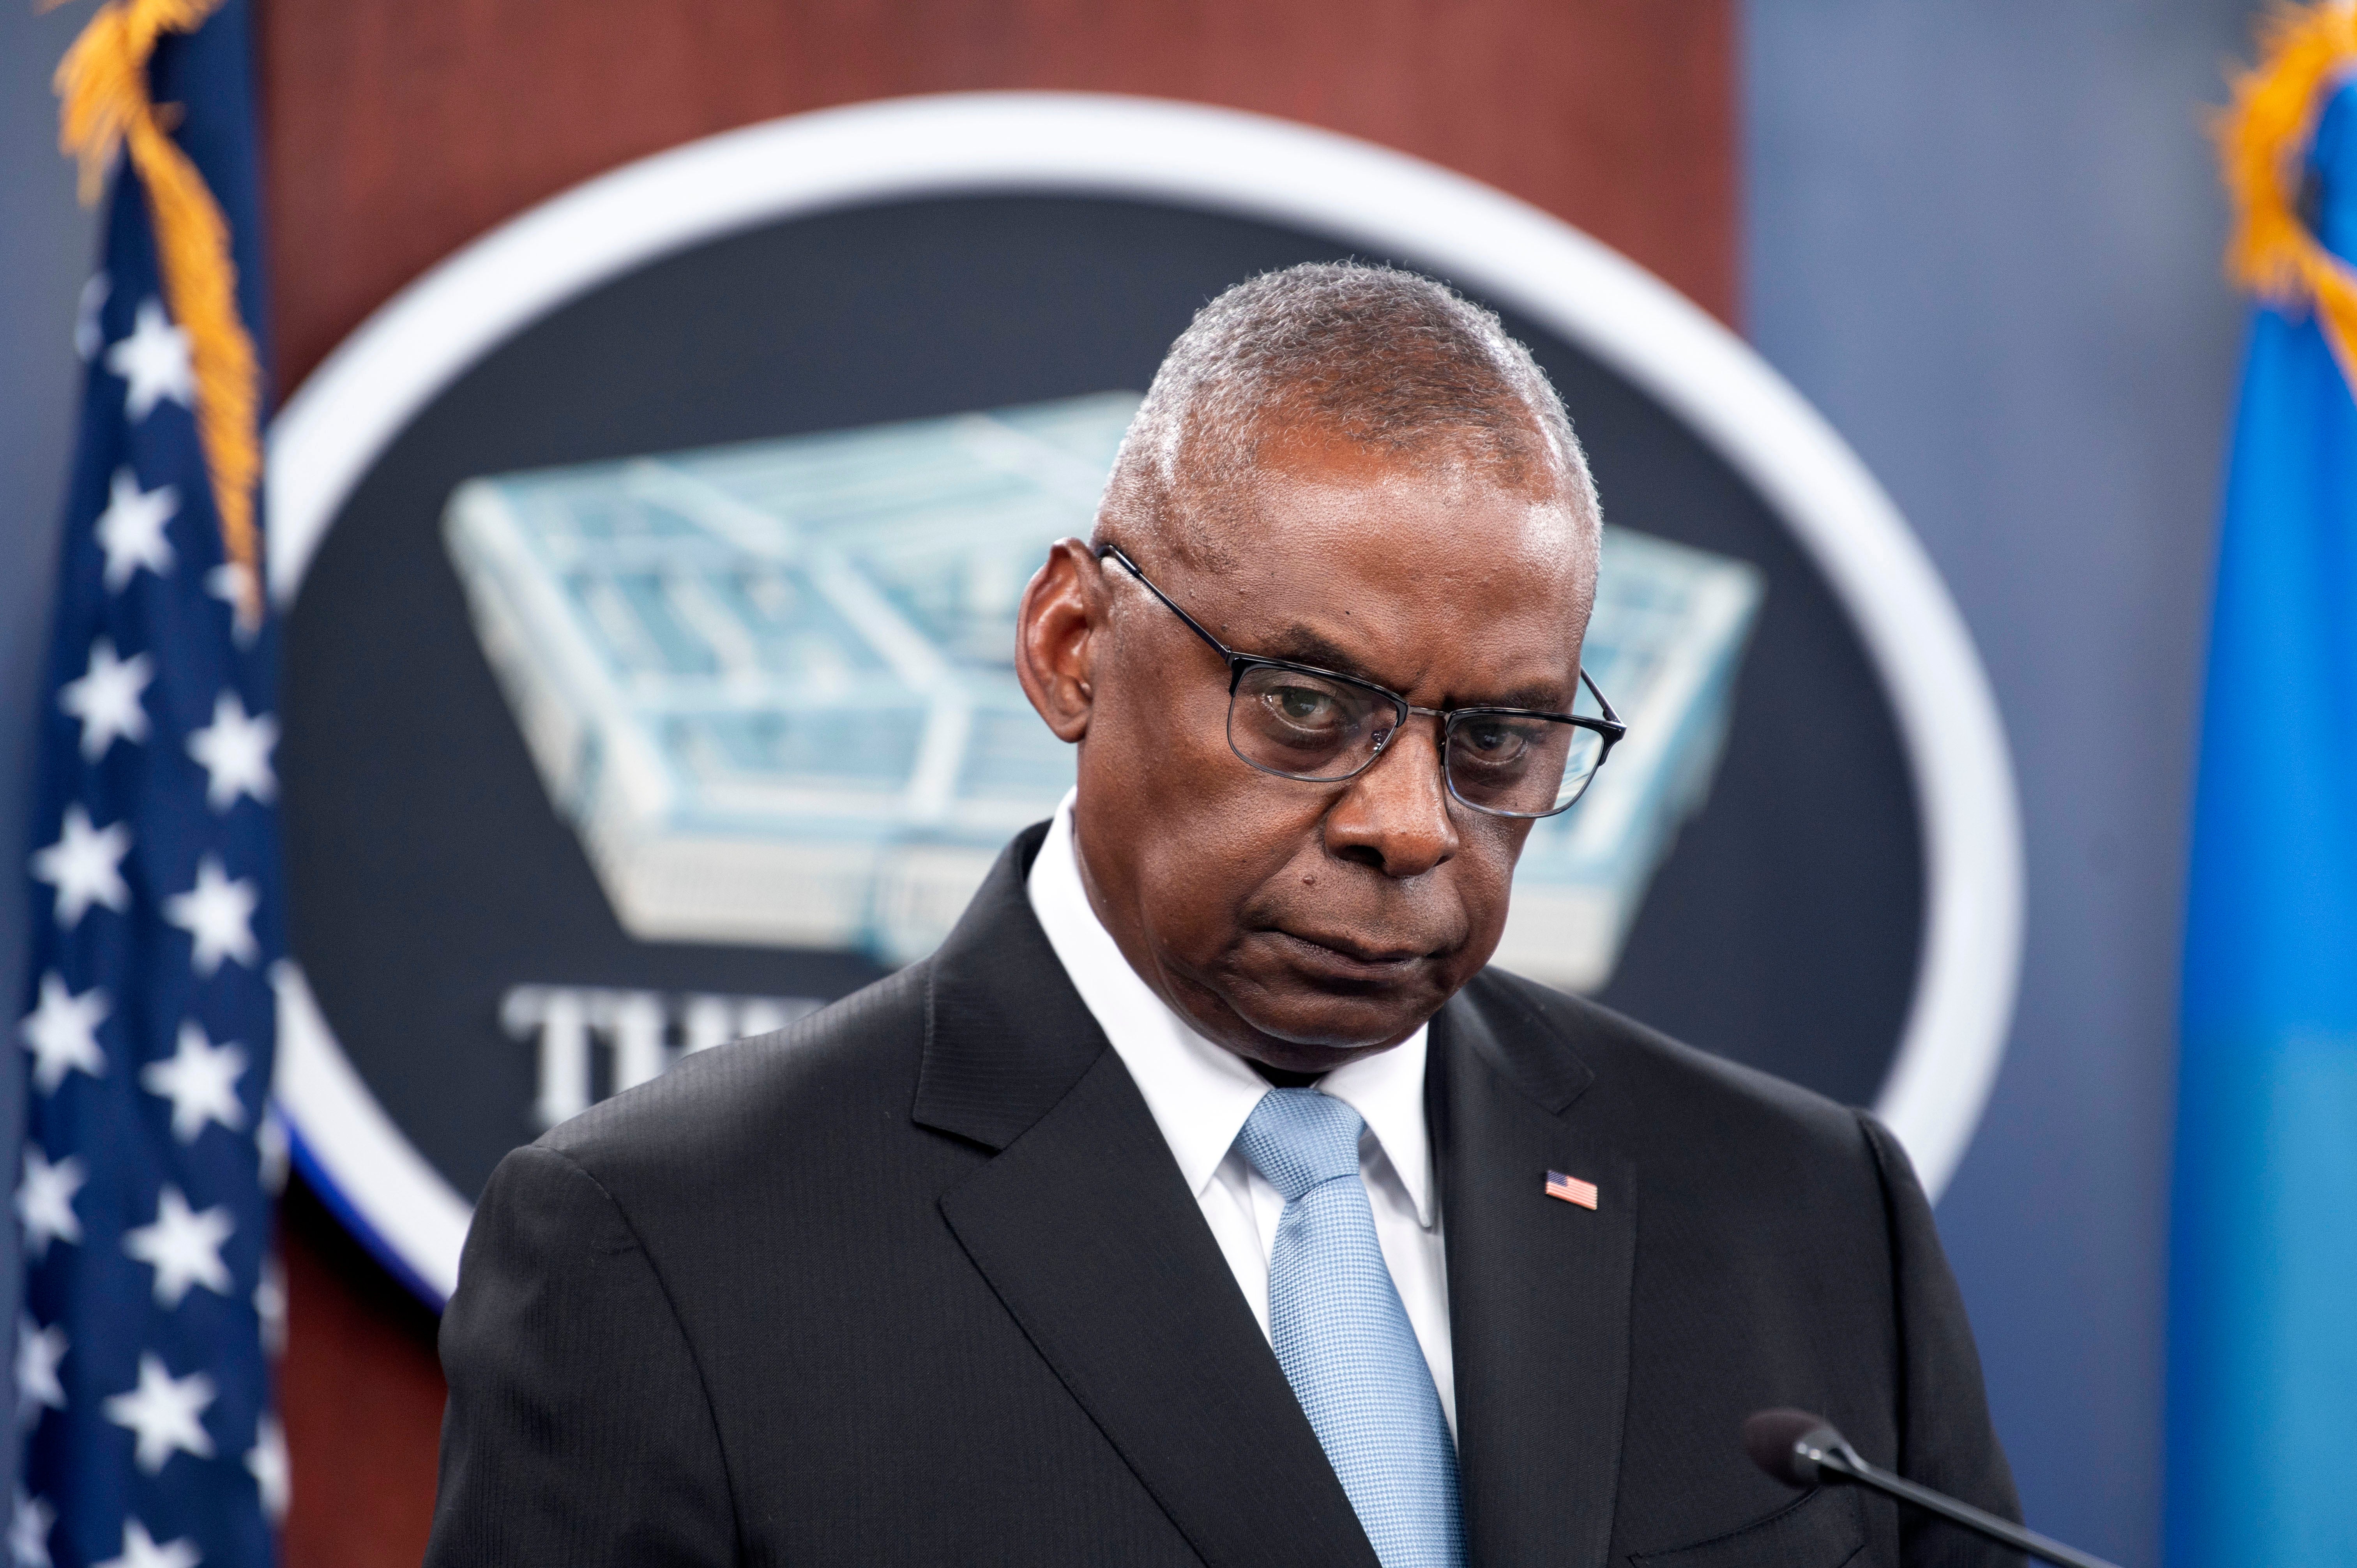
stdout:
<svg viewBox="0 0 2357 1568">
<path fill-rule="evenodd" d="M 636 941 L 556 816 L 443 547 L 478 474 L 1143 389 L 1188 316 L 1320 236 L 1110 198 L 849 207 L 646 266 L 448 387 L 354 490 L 288 620 L 297 957 L 344 1052 L 467 1195 L 537 1134 L 521 983 L 834 997 L 853 953 Z M 1374 257 L 1417 266 L 1417 257 Z M 1897 1045 L 1921 842 L 1881 686 L 1768 507 L 1690 431 L 1506 316 L 1563 391 L 1605 514 L 1754 564 L 1765 599 L 1706 806 L 1600 993 L 1850 1103 Z"/>
</svg>

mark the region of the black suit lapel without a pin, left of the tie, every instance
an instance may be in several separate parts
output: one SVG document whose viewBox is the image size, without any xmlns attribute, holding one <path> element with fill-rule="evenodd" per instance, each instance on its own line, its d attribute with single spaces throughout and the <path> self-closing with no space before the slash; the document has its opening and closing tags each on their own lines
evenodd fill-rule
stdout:
<svg viewBox="0 0 2357 1568">
<path fill-rule="evenodd" d="M 997 1151 L 940 1212 L 1214 1568 L 1376 1568 L 1122 1059 L 1023 896 L 1018 837 L 933 957 L 915 1115 Z"/>
</svg>

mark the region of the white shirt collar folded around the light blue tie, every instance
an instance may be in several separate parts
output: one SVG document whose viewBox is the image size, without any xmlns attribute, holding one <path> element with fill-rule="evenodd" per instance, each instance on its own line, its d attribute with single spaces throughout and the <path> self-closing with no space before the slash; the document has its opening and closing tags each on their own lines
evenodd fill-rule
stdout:
<svg viewBox="0 0 2357 1568">
<path fill-rule="evenodd" d="M 1146 1108 L 1171 1146 L 1188 1191 L 1202 1198 L 1235 1134 L 1244 1129 L 1244 1118 L 1268 1092 L 1268 1082 L 1242 1056 L 1195 1033 L 1122 957 L 1080 882 L 1075 795 L 1065 795 L 1056 806 L 1056 821 L 1049 823 L 1047 842 L 1032 861 L 1025 884 L 1032 915 L 1039 917 L 1080 1000 L 1146 1096 Z M 1424 1052 L 1426 1028 L 1419 1028 L 1388 1052 L 1334 1068 L 1318 1087 L 1358 1111 L 1417 1205 L 1417 1221 L 1431 1228 L 1433 1160 L 1424 1122 Z"/>
</svg>

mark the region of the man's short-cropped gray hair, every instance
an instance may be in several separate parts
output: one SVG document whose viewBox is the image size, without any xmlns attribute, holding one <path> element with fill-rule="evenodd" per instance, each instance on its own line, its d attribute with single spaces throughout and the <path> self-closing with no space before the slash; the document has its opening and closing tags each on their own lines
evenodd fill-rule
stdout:
<svg viewBox="0 0 2357 1568">
<path fill-rule="evenodd" d="M 1600 523 L 1563 398 L 1492 311 L 1395 266 L 1303 262 L 1237 283 L 1171 344 L 1113 460 L 1098 540 L 1134 521 L 1216 556 L 1202 523 L 1292 424 L 1560 488 L 1584 533 Z"/>
</svg>

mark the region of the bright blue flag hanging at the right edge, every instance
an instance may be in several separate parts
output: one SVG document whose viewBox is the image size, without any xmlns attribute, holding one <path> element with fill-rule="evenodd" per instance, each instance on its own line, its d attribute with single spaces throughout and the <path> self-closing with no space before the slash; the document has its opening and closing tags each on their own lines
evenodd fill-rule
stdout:
<svg viewBox="0 0 2357 1568">
<path fill-rule="evenodd" d="M 2305 226 L 2357 259 L 2357 97 Z M 2298 108 L 2298 106 L 2293 106 Z M 2293 165 L 2296 172 L 2296 165 Z M 2357 401 L 2258 309 L 2234 422 L 2187 889 L 2168 1561 L 2357 1563 Z"/>
</svg>

